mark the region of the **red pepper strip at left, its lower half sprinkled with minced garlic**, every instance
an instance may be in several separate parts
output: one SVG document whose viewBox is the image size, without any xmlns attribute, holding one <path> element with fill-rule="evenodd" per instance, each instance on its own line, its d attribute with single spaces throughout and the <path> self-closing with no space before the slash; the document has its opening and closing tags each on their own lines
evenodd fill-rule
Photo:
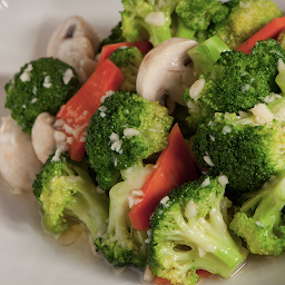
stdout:
<svg viewBox="0 0 285 285">
<path fill-rule="evenodd" d="M 91 116 L 101 105 L 101 97 L 107 91 L 119 89 L 124 76 L 118 67 L 106 59 L 100 68 L 90 76 L 85 85 L 57 114 L 57 120 L 63 120 L 73 131 L 65 130 L 71 142 L 67 140 L 70 158 L 80 161 L 85 154 L 85 131 Z"/>
</svg>

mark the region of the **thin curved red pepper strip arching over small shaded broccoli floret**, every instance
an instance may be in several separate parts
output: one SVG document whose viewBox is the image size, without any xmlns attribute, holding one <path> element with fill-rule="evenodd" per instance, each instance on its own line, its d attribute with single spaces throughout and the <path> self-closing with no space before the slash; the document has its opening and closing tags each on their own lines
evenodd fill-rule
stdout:
<svg viewBox="0 0 285 285">
<path fill-rule="evenodd" d="M 149 41 L 118 42 L 106 45 L 101 49 L 97 68 L 99 68 L 104 60 L 107 59 L 111 55 L 111 52 L 119 47 L 136 47 L 141 51 L 142 55 L 146 55 L 150 49 L 153 49 L 153 45 Z"/>
</svg>

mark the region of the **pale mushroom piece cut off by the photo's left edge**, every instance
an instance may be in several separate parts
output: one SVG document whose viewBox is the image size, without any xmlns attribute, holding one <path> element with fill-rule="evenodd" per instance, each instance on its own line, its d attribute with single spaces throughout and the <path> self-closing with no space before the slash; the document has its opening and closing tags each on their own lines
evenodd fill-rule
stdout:
<svg viewBox="0 0 285 285">
<path fill-rule="evenodd" d="M 9 115 L 1 118 L 0 127 L 0 177 L 13 194 L 32 191 L 32 183 L 42 164 L 37 158 L 31 136 Z"/>
</svg>

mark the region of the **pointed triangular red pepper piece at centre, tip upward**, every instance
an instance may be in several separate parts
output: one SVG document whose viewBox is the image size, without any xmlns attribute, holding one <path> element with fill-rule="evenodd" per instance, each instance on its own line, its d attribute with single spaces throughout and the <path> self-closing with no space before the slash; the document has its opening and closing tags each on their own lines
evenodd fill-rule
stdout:
<svg viewBox="0 0 285 285">
<path fill-rule="evenodd" d="M 171 129 L 168 145 L 154 168 L 141 188 L 144 191 L 141 200 L 132 206 L 129 213 L 131 225 L 137 230 L 148 228 L 155 207 L 171 189 L 198 179 L 190 151 L 177 124 Z"/>
</svg>

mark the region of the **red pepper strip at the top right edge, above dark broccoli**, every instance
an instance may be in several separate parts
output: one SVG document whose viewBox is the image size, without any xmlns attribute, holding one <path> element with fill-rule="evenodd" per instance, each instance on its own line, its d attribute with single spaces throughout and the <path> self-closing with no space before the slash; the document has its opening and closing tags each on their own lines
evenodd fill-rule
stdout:
<svg viewBox="0 0 285 285">
<path fill-rule="evenodd" d="M 278 33 L 285 28 L 285 17 L 276 18 L 264 28 L 257 31 L 253 37 L 246 40 L 242 46 L 238 47 L 237 51 L 249 53 L 255 43 L 258 40 L 266 40 L 269 38 L 276 38 Z"/>
</svg>

